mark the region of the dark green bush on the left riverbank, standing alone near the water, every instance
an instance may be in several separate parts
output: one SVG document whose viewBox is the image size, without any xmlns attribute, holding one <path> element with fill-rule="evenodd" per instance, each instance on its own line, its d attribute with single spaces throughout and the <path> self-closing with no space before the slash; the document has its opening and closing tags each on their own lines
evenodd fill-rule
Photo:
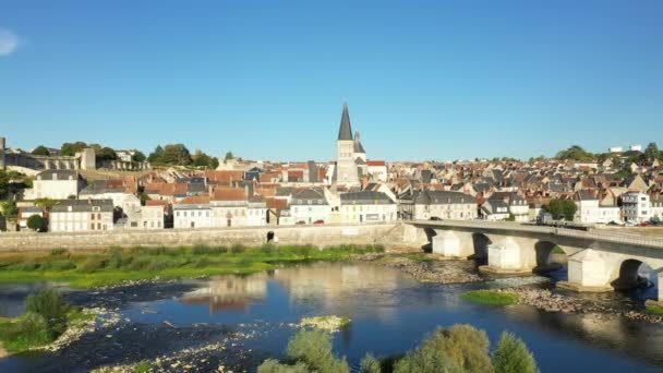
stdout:
<svg viewBox="0 0 663 373">
<path fill-rule="evenodd" d="M 27 313 L 32 312 L 44 317 L 47 333 L 51 339 L 56 339 L 67 329 L 67 312 L 69 312 L 70 306 L 64 302 L 62 296 L 53 289 L 47 289 L 27 297 L 25 310 Z"/>
</svg>

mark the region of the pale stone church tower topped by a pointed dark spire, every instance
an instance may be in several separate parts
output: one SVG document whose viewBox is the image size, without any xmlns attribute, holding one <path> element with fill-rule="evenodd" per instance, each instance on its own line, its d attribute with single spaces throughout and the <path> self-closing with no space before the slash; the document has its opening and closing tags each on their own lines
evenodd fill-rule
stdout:
<svg viewBox="0 0 663 373">
<path fill-rule="evenodd" d="M 336 141 L 336 180 L 340 184 L 359 184 L 357 164 L 354 163 L 354 137 L 350 125 L 348 104 L 343 105 L 340 128 Z"/>
</svg>

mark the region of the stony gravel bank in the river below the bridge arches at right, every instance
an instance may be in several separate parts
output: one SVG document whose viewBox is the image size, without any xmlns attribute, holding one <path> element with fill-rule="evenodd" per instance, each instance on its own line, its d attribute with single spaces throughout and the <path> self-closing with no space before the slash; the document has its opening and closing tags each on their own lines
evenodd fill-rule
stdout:
<svg viewBox="0 0 663 373">
<path fill-rule="evenodd" d="M 663 322 L 663 317 L 659 315 L 650 315 L 632 310 L 620 311 L 589 300 L 556 294 L 551 290 L 538 289 L 530 286 L 502 288 L 495 291 L 515 293 L 518 296 L 520 304 L 531 305 L 545 312 L 611 314 L 649 323 Z"/>
</svg>

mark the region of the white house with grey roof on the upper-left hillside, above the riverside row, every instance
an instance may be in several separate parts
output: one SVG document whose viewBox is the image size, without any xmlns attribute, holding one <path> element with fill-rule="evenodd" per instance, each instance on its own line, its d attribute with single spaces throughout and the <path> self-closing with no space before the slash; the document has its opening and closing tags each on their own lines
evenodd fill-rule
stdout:
<svg viewBox="0 0 663 373">
<path fill-rule="evenodd" d="M 31 198 L 77 198 L 85 181 L 74 170 L 46 170 L 37 173 L 33 182 Z"/>
</svg>

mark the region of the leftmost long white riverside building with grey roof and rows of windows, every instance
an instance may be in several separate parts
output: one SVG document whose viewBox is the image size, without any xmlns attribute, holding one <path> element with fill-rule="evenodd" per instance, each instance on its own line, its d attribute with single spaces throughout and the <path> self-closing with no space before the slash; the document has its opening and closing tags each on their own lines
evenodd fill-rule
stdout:
<svg viewBox="0 0 663 373">
<path fill-rule="evenodd" d="M 51 232 L 104 231 L 113 229 L 112 201 L 64 200 L 51 207 Z"/>
</svg>

